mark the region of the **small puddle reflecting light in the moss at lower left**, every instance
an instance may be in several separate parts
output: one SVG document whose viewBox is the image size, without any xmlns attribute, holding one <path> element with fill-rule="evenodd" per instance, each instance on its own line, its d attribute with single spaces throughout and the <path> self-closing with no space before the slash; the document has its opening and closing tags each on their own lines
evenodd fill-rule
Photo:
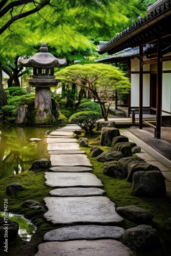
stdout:
<svg viewBox="0 0 171 256">
<path fill-rule="evenodd" d="M 0 217 L 4 218 L 4 212 L 0 211 Z M 22 238 L 22 240 L 29 242 L 36 231 L 36 227 L 22 215 L 8 213 L 8 219 L 18 222 L 18 236 Z"/>
</svg>

